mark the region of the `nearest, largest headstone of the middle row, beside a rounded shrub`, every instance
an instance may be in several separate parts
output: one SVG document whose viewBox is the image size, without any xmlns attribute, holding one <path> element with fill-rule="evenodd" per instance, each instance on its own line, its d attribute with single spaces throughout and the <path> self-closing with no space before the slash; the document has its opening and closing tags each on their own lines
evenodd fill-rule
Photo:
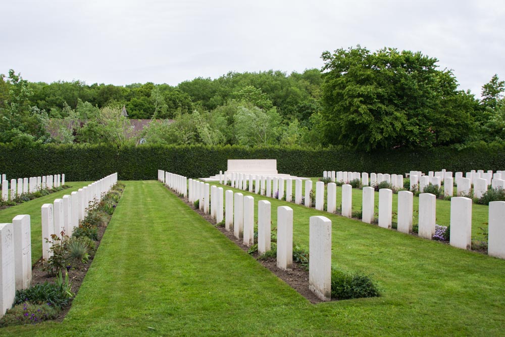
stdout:
<svg viewBox="0 0 505 337">
<path fill-rule="evenodd" d="M 322 301 L 331 300 L 331 220 L 311 216 L 309 224 L 309 290 Z"/>
</svg>

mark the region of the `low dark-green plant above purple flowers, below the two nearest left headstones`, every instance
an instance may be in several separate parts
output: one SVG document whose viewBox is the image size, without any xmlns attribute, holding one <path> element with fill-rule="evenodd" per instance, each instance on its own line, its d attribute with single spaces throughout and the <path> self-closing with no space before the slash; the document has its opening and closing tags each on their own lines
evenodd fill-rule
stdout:
<svg viewBox="0 0 505 337">
<path fill-rule="evenodd" d="M 26 301 L 33 304 L 50 303 L 53 306 L 61 308 L 69 303 L 70 297 L 62 293 L 58 284 L 46 281 L 16 292 L 15 304 L 21 304 Z"/>
</svg>

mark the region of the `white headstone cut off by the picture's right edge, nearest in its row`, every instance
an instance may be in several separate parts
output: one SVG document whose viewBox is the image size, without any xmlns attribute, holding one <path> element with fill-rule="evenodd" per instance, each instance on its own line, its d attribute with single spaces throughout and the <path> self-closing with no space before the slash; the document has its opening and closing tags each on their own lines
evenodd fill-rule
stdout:
<svg viewBox="0 0 505 337">
<path fill-rule="evenodd" d="M 488 221 L 487 254 L 505 259 L 505 201 L 489 203 Z"/>
</svg>

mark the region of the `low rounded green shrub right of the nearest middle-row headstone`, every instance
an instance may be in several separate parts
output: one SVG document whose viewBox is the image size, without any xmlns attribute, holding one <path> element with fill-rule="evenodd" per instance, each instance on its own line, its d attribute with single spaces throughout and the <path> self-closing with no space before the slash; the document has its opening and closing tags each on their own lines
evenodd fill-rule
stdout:
<svg viewBox="0 0 505 337">
<path fill-rule="evenodd" d="M 379 297 L 377 284 L 368 275 L 331 270 L 331 297 L 337 300 Z"/>
</svg>

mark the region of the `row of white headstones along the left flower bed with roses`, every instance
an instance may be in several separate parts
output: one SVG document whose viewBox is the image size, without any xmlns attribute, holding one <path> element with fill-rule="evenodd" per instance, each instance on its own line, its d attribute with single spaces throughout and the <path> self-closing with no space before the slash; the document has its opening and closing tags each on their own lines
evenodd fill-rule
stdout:
<svg viewBox="0 0 505 337">
<path fill-rule="evenodd" d="M 54 204 L 42 206 L 42 257 L 51 257 L 45 238 L 51 234 L 61 237 L 62 230 L 71 235 L 73 228 L 84 218 L 87 205 L 99 200 L 117 182 L 117 173 L 79 188 L 72 194 L 56 199 Z M 12 307 L 17 290 L 31 283 L 31 230 L 30 216 L 17 215 L 12 223 L 0 224 L 0 317 Z"/>
</svg>

